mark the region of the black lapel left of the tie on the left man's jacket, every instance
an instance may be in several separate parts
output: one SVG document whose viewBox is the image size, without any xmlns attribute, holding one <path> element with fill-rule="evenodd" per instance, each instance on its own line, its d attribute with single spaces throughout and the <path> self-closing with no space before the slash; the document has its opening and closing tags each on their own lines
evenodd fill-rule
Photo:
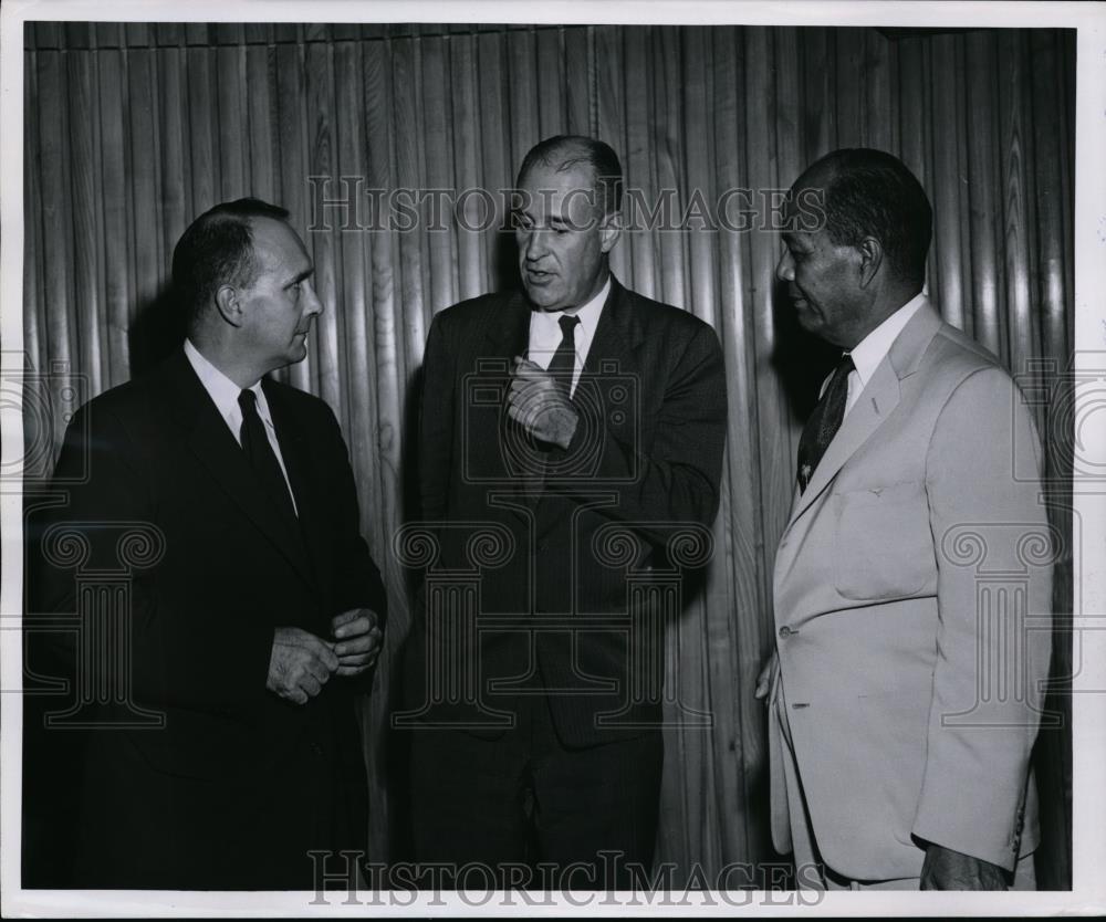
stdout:
<svg viewBox="0 0 1106 922">
<path fill-rule="evenodd" d="M 188 446 L 230 497 L 234 507 L 288 559 L 306 583 L 314 585 L 300 536 L 292 534 L 250 469 L 226 420 L 204 389 L 184 352 L 167 366 L 176 399 L 177 419 L 188 431 Z M 265 391 L 267 396 L 269 391 Z M 283 454 L 283 446 L 282 452 Z M 299 502 L 299 499 L 296 500 Z"/>
</svg>

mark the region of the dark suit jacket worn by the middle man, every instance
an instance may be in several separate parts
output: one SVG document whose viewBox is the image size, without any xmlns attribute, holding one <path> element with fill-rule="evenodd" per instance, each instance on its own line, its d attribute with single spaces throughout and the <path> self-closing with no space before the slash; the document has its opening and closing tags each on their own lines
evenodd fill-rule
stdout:
<svg viewBox="0 0 1106 922">
<path fill-rule="evenodd" d="M 520 690 L 555 689 L 562 740 L 595 745 L 657 726 L 664 610 L 678 614 L 678 565 L 696 563 L 679 535 L 703 541 L 718 511 L 722 354 L 708 324 L 613 282 L 573 392 L 573 442 L 544 452 L 504 412 L 529 329 L 521 293 L 457 304 L 430 328 L 419 458 L 439 555 L 416 606 L 407 702 L 428 723 L 493 736 Z M 459 594 L 441 603 L 451 580 Z M 479 660 L 462 662 L 473 625 Z"/>
</svg>

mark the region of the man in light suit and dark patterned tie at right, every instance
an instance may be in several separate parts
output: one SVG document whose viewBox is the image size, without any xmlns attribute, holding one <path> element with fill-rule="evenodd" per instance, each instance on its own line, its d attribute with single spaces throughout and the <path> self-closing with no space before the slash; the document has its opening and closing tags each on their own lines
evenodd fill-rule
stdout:
<svg viewBox="0 0 1106 922">
<path fill-rule="evenodd" d="M 922 294 L 932 212 L 898 159 L 837 150 L 792 193 L 776 275 L 844 354 L 775 560 L 775 846 L 801 886 L 1032 888 L 1052 597 L 1033 421 Z"/>
</svg>

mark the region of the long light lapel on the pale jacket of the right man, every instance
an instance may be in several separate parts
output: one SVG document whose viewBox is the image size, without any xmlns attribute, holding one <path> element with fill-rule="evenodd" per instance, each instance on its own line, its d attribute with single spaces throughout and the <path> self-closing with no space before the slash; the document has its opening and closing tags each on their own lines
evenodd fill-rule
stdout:
<svg viewBox="0 0 1106 922">
<path fill-rule="evenodd" d="M 902 332 L 896 337 L 890 350 L 876 367 L 856 404 L 845 417 L 841 429 L 818 462 L 806 490 L 802 495 L 796 491 L 791 513 L 792 523 L 810 509 L 848 459 L 872 438 L 898 406 L 901 394 L 899 383 L 918 370 L 921 357 L 941 323 L 940 316 L 927 301 L 902 327 Z"/>
</svg>

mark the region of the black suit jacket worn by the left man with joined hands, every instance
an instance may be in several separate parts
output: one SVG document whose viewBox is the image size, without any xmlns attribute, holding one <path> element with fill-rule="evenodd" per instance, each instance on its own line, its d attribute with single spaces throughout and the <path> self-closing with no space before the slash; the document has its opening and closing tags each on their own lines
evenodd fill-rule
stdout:
<svg viewBox="0 0 1106 922">
<path fill-rule="evenodd" d="M 315 397 L 263 386 L 302 534 L 282 527 L 182 352 L 79 412 L 54 476 L 87 475 L 66 505 L 32 521 L 40 610 L 80 607 L 86 627 L 96 603 L 75 594 L 90 572 L 118 570 L 121 556 L 138 564 L 129 630 L 111 632 L 129 643 L 129 669 L 113 659 L 100 672 L 124 683 L 129 673 L 134 706 L 101 695 L 82 719 L 123 726 L 58 731 L 83 746 L 72 777 L 75 886 L 310 889 L 309 848 L 362 844 L 357 683 L 332 679 L 296 706 L 265 681 L 274 628 L 328 637 L 345 609 L 383 617 L 384 586 L 358 533 L 334 415 Z M 74 531 L 83 560 L 66 558 L 62 537 Z M 145 549 L 121 543 L 135 532 Z M 107 604 L 124 608 L 119 597 Z M 145 712 L 164 726 L 136 726 Z"/>
</svg>

